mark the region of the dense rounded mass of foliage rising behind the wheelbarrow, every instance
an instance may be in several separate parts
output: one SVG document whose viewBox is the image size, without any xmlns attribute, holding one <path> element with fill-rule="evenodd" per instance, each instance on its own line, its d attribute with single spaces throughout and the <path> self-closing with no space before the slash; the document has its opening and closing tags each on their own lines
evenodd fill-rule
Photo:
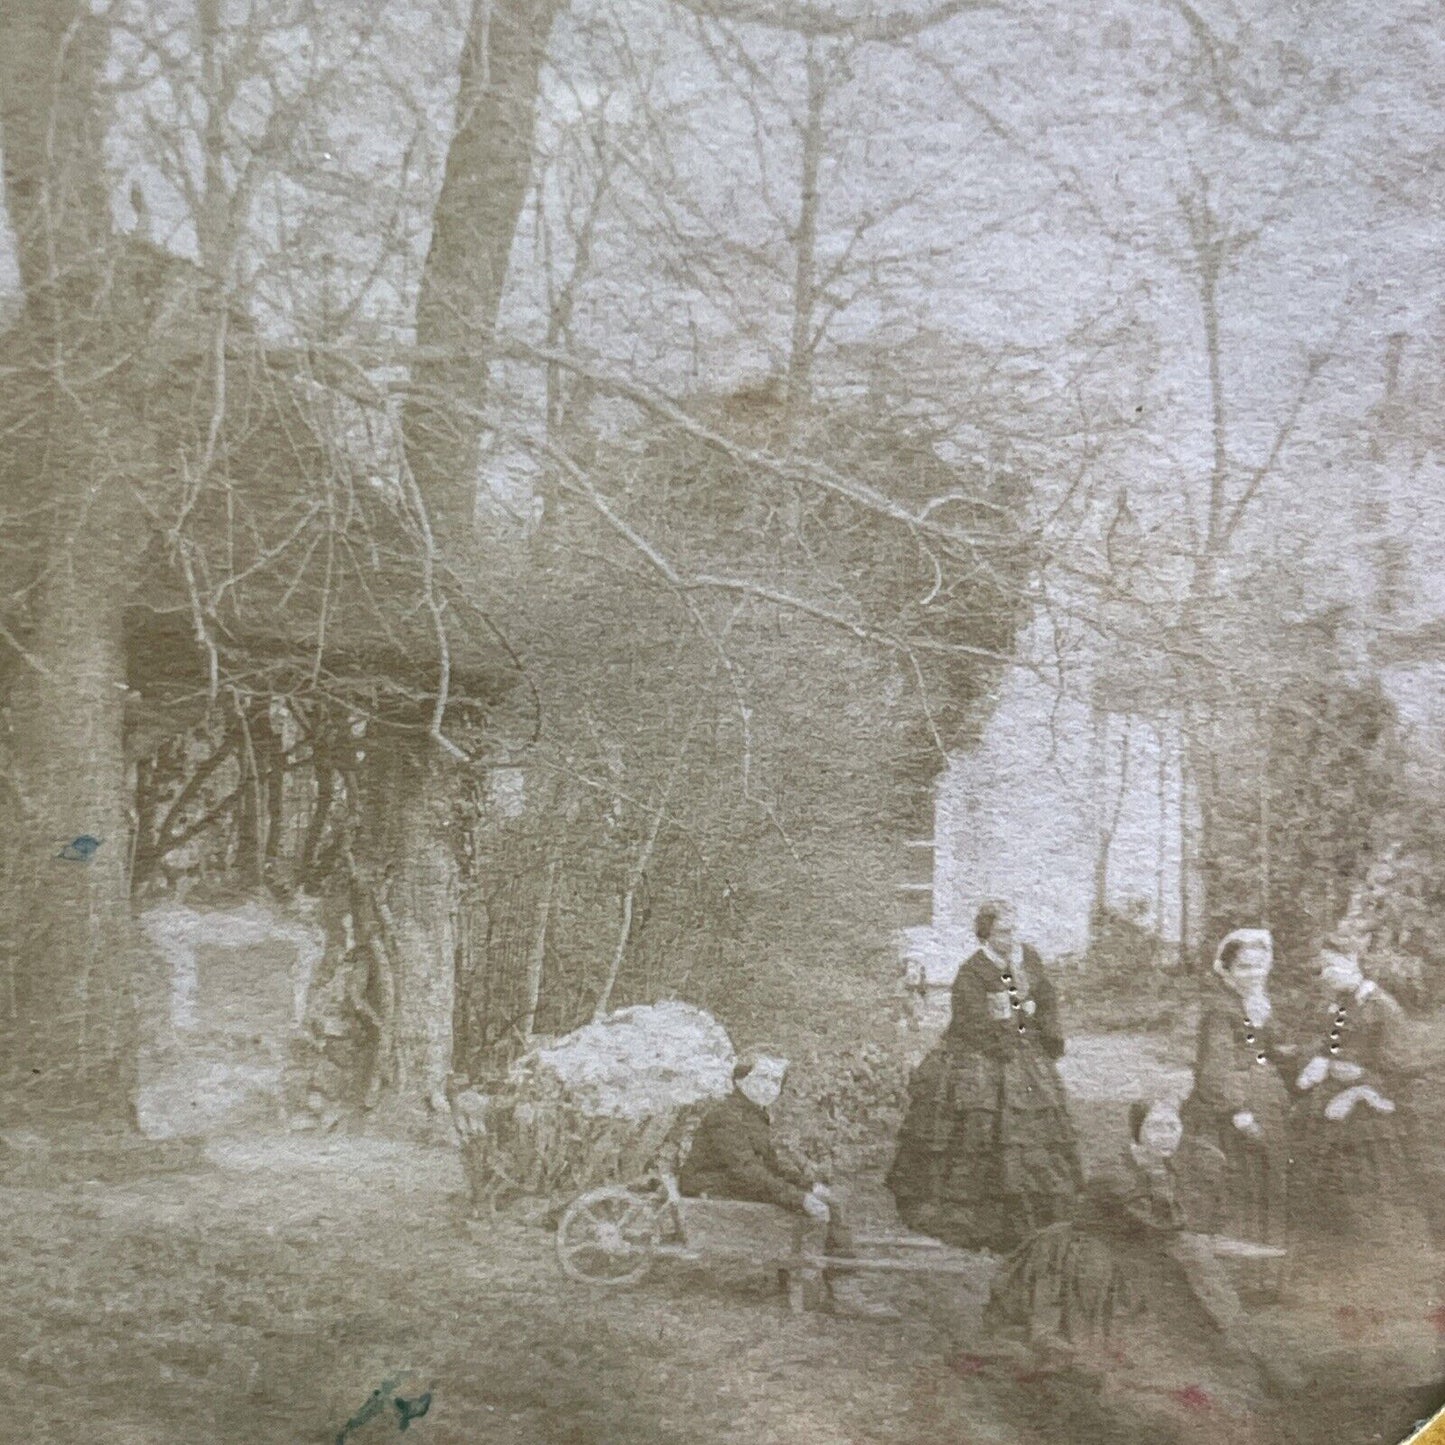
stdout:
<svg viewBox="0 0 1445 1445">
<path fill-rule="evenodd" d="M 1023 517 L 906 422 L 841 407 L 789 452 L 777 420 L 750 418 L 759 455 L 660 425 L 598 448 L 610 536 L 595 494 L 552 499 L 512 611 L 540 737 L 519 815 L 478 834 L 473 1072 L 527 1014 L 539 939 L 540 1032 L 668 991 L 743 1038 L 887 1007 L 900 844 L 931 832 L 941 746 L 967 740 L 1007 655 Z M 980 522 L 971 556 L 935 568 L 871 506 L 790 487 L 824 436 L 829 468 L 889 504 L 952 493 L 952 529 Z"/>
</svg>

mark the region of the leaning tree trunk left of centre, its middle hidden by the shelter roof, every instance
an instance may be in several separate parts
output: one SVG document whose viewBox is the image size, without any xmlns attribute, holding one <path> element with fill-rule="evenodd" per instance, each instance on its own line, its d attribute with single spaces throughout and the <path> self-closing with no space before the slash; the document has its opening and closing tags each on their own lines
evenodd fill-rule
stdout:
<svg viewBox="0 0 1445 1445">
<path fill-rule="evenodd" d="M 403 415 L 407 464 L 436 551 L 475 574 L 481 409 L 517 220 L 532 176 L 542 61 L 561 0 L 474 0 L 462 48 L 457 123 L 447 152 L 416 305 Z M 451 1069 L 458 870 L 451 803 L 458 767 L 426 740 L 379 760 L 368 799 L 370 851 L 390 870 L 396 951 L 393 1087 L 403 1108 L 441 1103 Z"/>
</svg>

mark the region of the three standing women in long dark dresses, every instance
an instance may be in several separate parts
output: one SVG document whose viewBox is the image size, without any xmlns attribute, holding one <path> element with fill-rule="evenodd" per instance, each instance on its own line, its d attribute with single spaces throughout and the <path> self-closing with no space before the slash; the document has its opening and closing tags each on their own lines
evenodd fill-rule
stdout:
<svg viewBox="0 0 1445 1445">
<path fill-rule="evenodd" d="M 1009 1253 L 1074 1215 L 1085 1191 L 1056 1061 L 1065 1040 L 1039 955 L 1004 903 L 975 919 L 952 1017 L 915 1071 L 889 1186 L 912 1228 Z M 1173 1172 L 1191 1230 L 1283 1247 L 1302 1235 L 1377 1233 L 1423 1220 L 1412 1194 L 1400 1095 L 1413 1068 L 1399 1003 L 1348 952 L 1318 961 L 1316 1036 L 1282 1036 L 1273 941 L 1238 929 L 1214 958 L 1194 1091 Z M 1293 1199 L 1293 1208 L 1290 1201 Z M 1402 1208 L 1410 1218 L 1402 1217 Z"/>
</svg>

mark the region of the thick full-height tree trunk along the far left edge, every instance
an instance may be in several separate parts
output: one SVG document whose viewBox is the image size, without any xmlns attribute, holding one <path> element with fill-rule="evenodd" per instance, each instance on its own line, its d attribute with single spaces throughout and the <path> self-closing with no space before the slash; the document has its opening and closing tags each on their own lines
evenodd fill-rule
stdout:
<svg viewBox="0 0 1445 1445">
<path fill-rule="evenodd" d="M 124 611 L 143 543 L 133 487 L 152 457 L 105 364 L 129 299 L 107 295 L 104 266 L 107 30 L 78 3 L 14 0 L 4 39 L 0 143 L 26 299 L 12 340 L 29 340 L 38 379 L 9 470 L 27 488 L 17 500 L 52 504 L 30 539 L 42 579 L 4 699 L 17 799 L 4 1059 L 14 1111 L 127 1124 L 149 952 L 130 916 Z M 82 838 L 98 848 L 66 848 Z"/>
</svg>

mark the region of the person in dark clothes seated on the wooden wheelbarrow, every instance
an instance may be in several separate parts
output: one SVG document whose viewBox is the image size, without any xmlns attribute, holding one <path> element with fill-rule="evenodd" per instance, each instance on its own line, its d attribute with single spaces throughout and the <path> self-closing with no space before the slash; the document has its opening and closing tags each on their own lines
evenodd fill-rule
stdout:
<svg viewBox="0 0 1445 1445">
<path fill-rule="evenodd" d="M 788 1061 L 743 1056 L 733 1069 L 733 1092 L 702 1116 L 692 1149 L 678 1175 L 678 1189 L 694 1198 L 751 1199 L 828 1221 L 828 1254 L 847 1259 L 853 1235 L 842 1208 L 821 1183 L 777 1157 L 769 1111 L 783 1091 Z M 897 1312 L 871 1303 L 853 1274 L 827 1273 L 835 1314 L 863 1319 L 897 1319 Z"/>
</svg>

